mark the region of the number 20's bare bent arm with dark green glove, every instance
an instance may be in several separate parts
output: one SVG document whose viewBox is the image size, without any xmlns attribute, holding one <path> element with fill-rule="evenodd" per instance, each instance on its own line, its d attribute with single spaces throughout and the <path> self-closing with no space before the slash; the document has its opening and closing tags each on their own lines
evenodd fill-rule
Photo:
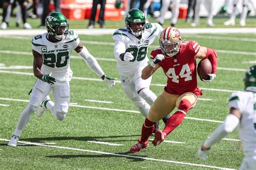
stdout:
<svg viewBox="0 0 256 170">
<path fill-rule="evenodd" d="M 34 75 L 41 79 L 42 81 L 49 83 L 50 85 L 53 85 L 55 82 L 55 78 L 51 77 L 50 74 L 43 74 L 41 71 L 41 67 L 43 65 L 43 57 L 41 54 L 39 54 L 37 51 L 32 50 L 34 60 L 33 60 L 33 72 Z"/>
</svg>

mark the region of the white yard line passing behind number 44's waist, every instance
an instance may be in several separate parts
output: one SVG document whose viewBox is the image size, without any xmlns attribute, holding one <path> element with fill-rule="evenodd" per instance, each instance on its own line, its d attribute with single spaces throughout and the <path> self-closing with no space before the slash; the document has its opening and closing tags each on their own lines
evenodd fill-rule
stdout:
<svg viewBox="0 0 256 170">
<path fill-rule="evenodd" d="M 34 76 L 33 73 L 26 73 L 26 72 L 17 72 L 17 71 L 7 71 L 7 70 L 0 70 L 0 73 L 7 73 L 7 74 L 21 74 L 26 76 Z M 90 80 L 90 81 L 102 81 L 99 78 L 85 78 L 85 77 L 72 77 L 72 79 L 76 80 Z M 103 82 L 103 81 L 102 81 Z M 121 83 L 120 80 L 116 80 L 116 83 Z M 151 84 L 151 86 L 161 86 L 164 87 L 165 84 Z M 208 89 L 204 87 L 199 87 L 201 90 L 208 90 L 208 91 L 218 91 L 218 92 L 234 92 L 233 90 L 226 90 L 226 89 Z"/>
</svg>

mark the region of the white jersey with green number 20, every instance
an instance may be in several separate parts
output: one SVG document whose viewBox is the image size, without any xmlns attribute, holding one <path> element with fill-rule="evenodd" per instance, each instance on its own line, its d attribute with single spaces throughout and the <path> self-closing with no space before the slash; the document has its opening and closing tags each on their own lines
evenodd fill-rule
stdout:
<svg viewBox="0 0 256 170">
<path fill-rule="evenodd" d="M 71 51 L 76 49 L 80 42 L 75 31 L 69 31 L 65 39 L 52 43 L 48 39 L 48 33 L 43 33 L 32 38 L 32 49 L 43 56 L 41 71 L 58 81 L 70 81 L 72 70 L 70 69 Z"/>
</svg>

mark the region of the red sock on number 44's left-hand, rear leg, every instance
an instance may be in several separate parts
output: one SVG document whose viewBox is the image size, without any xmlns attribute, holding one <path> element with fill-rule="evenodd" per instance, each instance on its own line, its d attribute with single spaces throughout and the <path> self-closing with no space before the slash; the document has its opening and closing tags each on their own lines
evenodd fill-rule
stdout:
<svg viewBox="0 0 256 170">
<path fill-rule="evenodd" d="M 146 142 L 149 139 L 149 136 L 154 131 L 154 122 L 149 119 L 145 119 L 145 122 L 142 126 L 142 138 L 140 138 L 140 142 Z"/>
</svg>

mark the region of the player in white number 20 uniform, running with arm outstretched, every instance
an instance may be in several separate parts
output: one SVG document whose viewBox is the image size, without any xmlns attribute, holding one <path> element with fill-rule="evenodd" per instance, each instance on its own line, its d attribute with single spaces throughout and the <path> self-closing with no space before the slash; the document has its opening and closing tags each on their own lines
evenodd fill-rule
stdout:
<svg viewBox="0 0 256 170">
<path fill-rule="evenodd" d="M 41 116 L 46 108 L 58 119 L 63 120 L 70 104 L 69 81 L 71 50 L 75 50 L 87 65 L 112 88 L 114 78 L 107 77 L 97 60 L 89 53 L 75 31 L 69 31 L 66 17 L 60 12 L 51 12 L 45 19 L 48 32 L 32 38 L 33 72 L 38 78 L 31 91 L 28 106 L 22 112 L 8 145 L 17 146 L 19 137 L 33 112 Z M 55 103 L 48 94 L 52 90 Z"/>
</svg>

